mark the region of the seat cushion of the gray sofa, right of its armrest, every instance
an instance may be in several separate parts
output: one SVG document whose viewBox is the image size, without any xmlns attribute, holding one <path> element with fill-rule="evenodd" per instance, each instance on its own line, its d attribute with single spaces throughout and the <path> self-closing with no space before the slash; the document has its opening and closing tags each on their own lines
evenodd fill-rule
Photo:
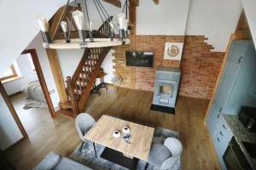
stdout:
<svg viewBox="0 0 256 170">
<path fill-rule="evenodd" d="M 59 164 L 55 167 L 55 170 L 92 170 L 89 167 L 85 167 L 77 161 L 63 157 Z"/>
</svg>

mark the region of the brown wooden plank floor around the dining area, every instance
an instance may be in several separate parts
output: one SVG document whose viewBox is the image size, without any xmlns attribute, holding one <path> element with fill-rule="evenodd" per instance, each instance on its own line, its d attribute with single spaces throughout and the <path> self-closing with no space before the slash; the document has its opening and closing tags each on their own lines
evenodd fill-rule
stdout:
<svg viewBox="0 0 256 170">
<path fill-rule="evenodd" d="M 151 92 L 109 87 L 108 92 L 102 89 L 101 96 L 90 96 L 85 112 L 96 120 L 107 114 L 151 127 L 177 130 L 183 143 L 183 170 L 219 169 L 217 156 L 203 122 L 208 101 L 179 96 L 176 114 L 170 115 L 150 111 L 152 98 Z M 79 135 L 72 118 L 58 116 L 52 120 L 48 111 L 34 111 L 30 116 L 31 125 L 25 125 L 29 139 L 6 151 L 17 169 L 31 169 L 50 150 L 69 156 L 79 144 Z"/>
</svg>

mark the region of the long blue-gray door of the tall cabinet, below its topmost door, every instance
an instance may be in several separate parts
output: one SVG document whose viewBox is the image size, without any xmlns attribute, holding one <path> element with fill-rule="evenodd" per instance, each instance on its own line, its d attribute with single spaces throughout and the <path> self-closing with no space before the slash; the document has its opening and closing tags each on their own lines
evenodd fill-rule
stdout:
<svg viewBox="0 0 256 170">
<path fill-rule="evenodd" d="M 212 137 L 215 131 L 218 114 L 223 113 L 224 105 L 229 99 L 230 92 L 233 88 L 234 83 L 236 82 L 236 77 L 239 73 L 240 68 L 241 65 L 238 65 L 236 62 L 227 59 L 222 77 L 218 83 L 218 89 L 212 101 L 210 113 L 207 117 L 207 125 Z"/>
</svg>

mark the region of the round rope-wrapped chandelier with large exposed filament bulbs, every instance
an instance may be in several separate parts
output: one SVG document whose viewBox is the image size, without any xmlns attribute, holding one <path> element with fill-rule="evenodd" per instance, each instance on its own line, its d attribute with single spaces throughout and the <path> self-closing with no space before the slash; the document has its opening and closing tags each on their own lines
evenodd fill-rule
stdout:
<svg viewBox="0 0 256 170">
<path fill-rule="evenodd" d="M 67 0 L 67 5 L 61 14 L 61 18 L 52 37 L 49 37 L 48 21 L 44 17 L 38 17 L 38 24 L 41 28 L 41 33 L 44 40 L 44 48 L 101 48 L 120 46 L 130 43 L 128 35 L 129 20 L 127 17 L 127 11 L 129 8 L 128 0 L 125 1 L 122 12 L 117 16 L 118 26 L 115 25 L 113 17 L 108 14 L 106 8 L 104 8 L 100 0 L 89 0 L 90 2 L 94 3 L 96 11 L 100 16 L 100 20 L 102 20 L 102 26 L 105 26 L 104 31 L 107 35 L 101 36 L 101 33 L 97 32 L 97 34 L 100 34 L 100 36 L 95 35 L 95 37 L 93 34 L 93 23 L 90 21 L 90 14 L 87 8 L 87 1 L 88 0 L 75 0 L 73 5 L 71 5 L 70 0 Z M 78 9 L 74 10 L 75 7 L 80 7 L 80 4 L 82 11 Z M 67 8 L 70 6 L 73 6 L 72 18 L 66 22 L 64 17 L 67 14 Z M 79 32 L 79 38 L 70 38 L 73 22 L 77 27 L 77 31 Z M 65 39 L 54 40 L 55 34 L 59 28 L 61 28 Z M 108 32 L 106 33 L 106 31 Z"/>
</svg>

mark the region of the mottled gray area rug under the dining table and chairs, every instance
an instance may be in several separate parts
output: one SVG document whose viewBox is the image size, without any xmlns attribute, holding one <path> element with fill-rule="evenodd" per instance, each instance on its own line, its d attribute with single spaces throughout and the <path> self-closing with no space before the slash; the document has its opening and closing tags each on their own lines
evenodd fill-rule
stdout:
<svg viewBox="0 0 256 170">
<path fill-rule="evenodd" d="M 168 137 L 178 138 L 177 131 L 169 130 L 166 128 L 156 127 L 154 130 L 154 139 L 153 142 L 158 144 L 164 144 L 164 141 Z M 73 159 L 73 161 L 78 161 L 84 164 L 86 167 L 90 167 L 94 170 L 128 170 L 125 167 L 121 167 L 117 164 L 114 164 L 111 161 L 104 160 L 100 158 L 102 151 L 104 150 L 104 146 L 100 144 L 96 144 L 96 155 L 93 150 L 93 145 L 91 142 L 85 142 L 80 152 L 81 144 L 73 151 L 69 158 Z M 144 170 L 146 166 L 146 161 L 139 161 L 137 165 L 137 170 Z M 177 161 L 177 164 L 172 168 L 173 170 L 180 169 L 180 161 Z M 154 167 L 153 165 L 148 164 L 147 170 L 159 170 L 159 168 Z"/>
</svg>

